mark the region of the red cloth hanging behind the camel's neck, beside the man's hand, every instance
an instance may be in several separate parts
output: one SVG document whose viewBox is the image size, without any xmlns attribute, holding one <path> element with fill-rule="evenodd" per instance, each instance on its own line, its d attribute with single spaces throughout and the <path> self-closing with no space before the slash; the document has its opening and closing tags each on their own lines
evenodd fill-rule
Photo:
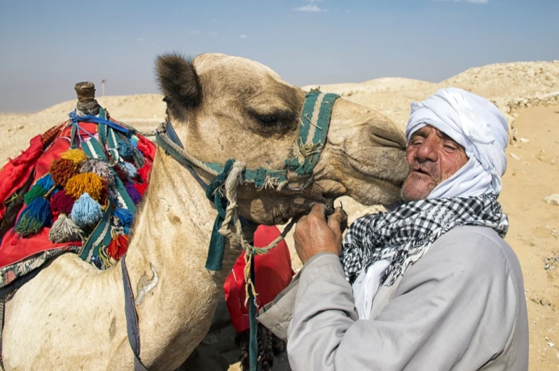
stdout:
<svg viewBox="0 0 559 371">
<path fill-rule="evenodd" d="M 280 235 L 277 226 L 258 226 L 254 234 L 254 246 L 263 247 Z M 249 304 L 245 305 L 244 252 L 237 259 L 224 284 L 225 302 L 231 323 L 236 332 L 249 329 Z M 273 301 L 286 288 L 295 272 L 291 268 L 291 254 L 286 241 L 281 241 L 268 254 L 254 256 L 254 275 L 258 309 Z"/>
</svg>

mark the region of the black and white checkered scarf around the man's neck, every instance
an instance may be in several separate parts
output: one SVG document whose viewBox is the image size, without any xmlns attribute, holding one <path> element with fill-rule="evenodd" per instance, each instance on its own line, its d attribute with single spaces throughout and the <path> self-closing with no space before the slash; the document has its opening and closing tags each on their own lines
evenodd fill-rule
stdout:
<svg viewBox="0 0 559 371">
<path fill-rule="evenodd" d="M 355 220 L 345 235 L 340 261 L 350 283 L 375 261 L 391 261 L 380 283 L 392 286 L 442 234 L 457 226 L 486 226 L 501 237 L 508 218 L 495 194 L 424 199 L 402 204 L 390 213 Z"/>
</svg>

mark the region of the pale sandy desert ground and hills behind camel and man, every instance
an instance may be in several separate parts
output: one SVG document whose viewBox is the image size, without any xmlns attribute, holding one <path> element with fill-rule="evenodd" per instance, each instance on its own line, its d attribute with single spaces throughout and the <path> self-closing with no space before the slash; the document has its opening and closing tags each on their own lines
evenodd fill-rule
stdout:
<svg viewBox="0 0 559 371">
<path fill-rule="evenodd" d="M 488 98 L 509 122 L 508 169 L 499 201 L 511 224 L 506 241 L 523 268 L 531 336 L 529 370 L 559 370 L 559 205 L 545 199 L 559 194 L 559 61 L 470 68 L 440 83 L 379 78 L 320 88 L 387 115 L 403 130 L 412 101 L 449 86 Z M 72 88 L 68 86 L 68 90 Z M 154 130 L 164 120 L 161 95 L 107 96 L 98 101 L 117 120 L 143 132 Z M 74 107 L 75 100 L 71 100 L 33 114 L 0 113 L 0 163 L 18 155 L 34 135 L 65 121 Z M 382 209 L 364 207 L 347 198 L 341 201 L 350 221 Z M 293 239 L 287 241 L 293 268 L 301 268 Z M 192 362 L 211 360 L 212 370 L 226 370 L 229 365 L 229 370 L 239 370 L 233 336 L 231 327 L 210 333 L 191 357 Z M 277 360 L 274 370 L 288 370 L 285 356 Z"/>
</svg>

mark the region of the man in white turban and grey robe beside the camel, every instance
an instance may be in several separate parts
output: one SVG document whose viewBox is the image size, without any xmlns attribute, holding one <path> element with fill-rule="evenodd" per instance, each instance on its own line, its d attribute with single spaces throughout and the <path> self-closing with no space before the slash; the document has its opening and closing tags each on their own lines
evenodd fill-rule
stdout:
<svg viewBox="0 0 559 371">
<path fill-rule="evenodd" d="M 404 204 L 344 240 L 343 211 L 327 222 L 316 205 L 294 235 L 303 269 L 259 320 L 278 335 L 288 323 L 293 371 L 528 370 L 521 267 L 496 201 L 506 120 L 450 88 L 412 104 L 406 135 Z"/>
</svg>

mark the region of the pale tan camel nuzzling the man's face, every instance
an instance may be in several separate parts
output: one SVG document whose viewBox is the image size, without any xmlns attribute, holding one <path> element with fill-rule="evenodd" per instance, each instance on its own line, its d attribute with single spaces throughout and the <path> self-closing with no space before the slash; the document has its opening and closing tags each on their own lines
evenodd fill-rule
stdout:
<svg viewBox="0 0 559 371">
<path fill-rule="evenodd" d="M 301 88 L 236 56 L 207 53 L 191 61 L 167 54 L 156 64 L 169 121 L 189 153 L 204 162 L 285 167 L 298 135 Z M 326 200 L 348 194 L 362 204 L 390 204 L 407 174 L 405 146 L 389 118 L 340 98 L 314 182 Z M 316 202 L 287 188 L 239 188 L 239 213 L 257 224 L 285 224 Z M 215 218 L 197 180 L 158 147 L 126 256 L 140 358 L 150 370 L 177 369 L 209 330 L 224 279 L 241 253 L 227 243 L 223 268 L 204 268 Z M 254 230 L 243 227 L 247 240 Z M 132 370 L 124 308 L 120 266 L 98 271 L 63 254 L 6 303 L 6 370 Z"/>
</svg>

